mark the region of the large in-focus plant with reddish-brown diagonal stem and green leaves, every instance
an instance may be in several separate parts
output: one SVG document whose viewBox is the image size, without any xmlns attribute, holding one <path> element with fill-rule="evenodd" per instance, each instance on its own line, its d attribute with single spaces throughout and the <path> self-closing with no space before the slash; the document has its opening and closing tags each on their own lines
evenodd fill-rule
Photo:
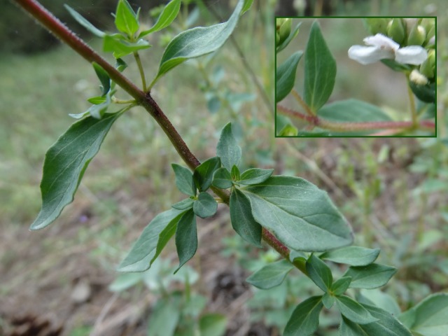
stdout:
<svg viewBox="0 0 448 336">
<path fill-rule="evenodd" d="M 300 303 L 291 314 L 283 335 L 313 335 L 323 309 L 339 311 L 339 335 L 405 336 L 413 333 L 429 336 L 435 335 L 430 333 L 433 330 L 442 330 L 440 325 L 446 327 L 448 295 L 431 295 L 400 316 L 390 314 L 359 295 L 361 288 L 384 286 L 397 269 L 375 262 L 378 248 L 351 246 L 353 231 L 325 191 L 300 177 L 275 175 L 273 169 L 246 169 L 232 123 L 223 126 L 216 155 L 200 162 L 151 96 L 152 88 L 167 71 L 187 59 L 221 48 L 237 27 L 241 15 L 251 7 L 251 0 L 237 1 L 230 18 L 223 23 L 195 27 L 175 36 L 165 48 L 158 71 L 149 82 L 146 81 L 139 52 L 151 48 L 146 36 L 174 21 L 179 13 L 180 0 L 167 3 L 155 25 L 143 31 L 139 22 L 140 10 L 134 10 L 127 0 L 119 0 L 114 15 L 117 32 L 114 33 L 97 29 L 67 6 L 80 25 L 102 38 L 103 50 L 113 53 L 116 64 L 106 62 L 37 1 L 15 2 L 92 63 L 101 84 L 101 94 L 88 99 L 92 106 L 83 113 L 72 115 L 79 120 L 57 139 L 45 155 L 42 207 L 31 224 L 31 230 L 45 228 L 57 219 L 64 207 L 73 201 L 87 166 L 98 153 L 111 126 L 118 119 L 126 118 L 134 106 L 143 106 L 167 134 L 186 164 L 186 167 L 172 165 L 176 176 L 174 185 L 185 198 L 153 218 L 118 266 L 119 272 L 151 269 L 171 239 L 175 241 L 179 256 L 179 266 L 175 270 L 178 272 L 200 248 L 197 218 L 214 216 L 218 203 L 224 203 L 230 207 L 230 222 L 237 235 L 254 248 L 267 244 L 281 256 L 281 260 L 249 276 L 248 283 L 262 289 L 281 286 L 286 276 L 297 269 L 316 285 L 318 295 L 298 298 Z M 287 44 L 297 30 L 298 27 L 286 38 L 279 36 L 279 48 L 284 48 L 284 43 Z M 312 34 L 316 41 L 322 41 L 318 26 L 314 26 Z M 311 47 L 307 49 L 308 53 L 329 57 L 323 45 L 318 50 Z M 127 67 L 123 57 L 128 55 L 134 57 L 139 68 L 141 87 L 123 75 Z M 289 64 L 297 66 L 300 55 L 300 52 L 293 55 Z M 333 66 L 332 63 L 321 63 L 318 57 L 311 57 L 307 62 L 318 62 L 320 66 L 328 67 L 326 76 L 329 81 L 323 83 L 318 78 L 307 79 L 305 102 L 311 111 L 318 111 L 330 94 Z M 288 78 L 285 81 L 289 83 Z M 119 87 L 132 99 L 118 98 Z M 117 111 L 111 109 L 112 105 L 123 107 Z M 344 269 L 342 276 L 333 274 L 330 262 Z M 436 317 L 428 314 L 427 307 L 432 304 L 443 314 Z"/>
</svg>

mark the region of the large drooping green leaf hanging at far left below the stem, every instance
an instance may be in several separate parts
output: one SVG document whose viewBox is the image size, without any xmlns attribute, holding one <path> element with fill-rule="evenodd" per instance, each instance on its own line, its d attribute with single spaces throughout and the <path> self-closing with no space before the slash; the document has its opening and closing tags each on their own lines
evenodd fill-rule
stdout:
<svg viewBox="0 0 448 336">
<path fill-rule="evenodd" d="M 92 117 L 79 120 L 48 149 L 41 181 L 42 207 L 30 230 L 45 228 L 73 202 L 85 169 L 122 114 L 114 113 L 101 120 Z"/>
</svg>

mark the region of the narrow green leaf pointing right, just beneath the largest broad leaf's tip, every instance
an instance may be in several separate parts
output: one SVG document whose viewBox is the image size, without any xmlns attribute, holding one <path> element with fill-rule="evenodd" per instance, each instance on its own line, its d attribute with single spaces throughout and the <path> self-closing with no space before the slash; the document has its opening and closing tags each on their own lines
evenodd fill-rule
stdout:
<svg viewBox="0 0 448 336">
<path fill-rule="evenodd" d="M 325 252 L 319 258 L 351 266 L 365 266 L 374 262 L 378 258 L 379 252 L 379 248 L 346 246 Z"/>
</svg>

